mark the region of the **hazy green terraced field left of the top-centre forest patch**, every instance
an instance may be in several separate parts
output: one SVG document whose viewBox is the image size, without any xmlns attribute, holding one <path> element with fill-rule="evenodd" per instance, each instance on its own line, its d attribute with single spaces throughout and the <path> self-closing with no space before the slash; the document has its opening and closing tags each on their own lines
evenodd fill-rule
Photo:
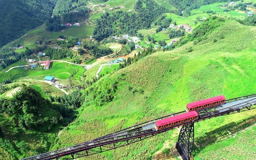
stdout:
<svg viewBox="0 0 256 160">
<path fill-rule="evenodd" d="M 69 27 L 65 32 L 53 32 L 49 39 L 57 39 L 60 35 L 67 37 L 78 37 L 79 39 L 89 38 L 93 35 L 94 26 L 81 24 L 81 26 Z"/>
</svg>

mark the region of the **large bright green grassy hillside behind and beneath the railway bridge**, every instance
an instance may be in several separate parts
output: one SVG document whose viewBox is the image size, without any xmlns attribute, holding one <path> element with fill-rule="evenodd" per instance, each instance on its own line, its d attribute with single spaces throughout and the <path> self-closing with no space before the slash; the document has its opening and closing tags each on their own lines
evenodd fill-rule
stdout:
<svg viewBox="0 0 256 160">
<path fill-rule="evenodd" d="M 224 39 L 219 39 L 220 35 L 224 35 Z M 213 32 L 209 39 L 197 45 L 189 43 L 173 51 L 154 53 L 110 77 L 104 76 L 96 85 L 108 78 L 123 79 L 118 84 L 114 100 L 102 107 L 89 101 L 87 107 L 79 111 L 78 119 L 63 130 L 56 147 L 84 142 L 155 117 L 182 111 L 191 101 L 219 94 L 229 99 L 255 93 L 255 38 L 256 27 L 229 21 Z M 213 39 L 218 41 L 213 43 Z M 187 52 L 189 46 L 193 48 L 190 53 Z M 125 73 L 125 76 L 120 73 Z M 133 87 L 131 91 L 129 86 Z M 133 93 L 141 88 L 143 94 Z M 206 139 L 211 131 L 227 125 L 231 130 L 235 129 L 236 123 L 250 120 L 255 114 L 256 111 L 252 110 L 199 122 L 195 125 L 196 139 Z M 86 159 L 144 160 L 160 150 L 168 139 L 174 145 L 177 131 L 168 131 Z M 245 148 L 239 150 L 243 151 Z M 232 152 L 237 151 L 230 150 L 230 155 Z M 201 158 L 207 157 L 207 154 L 200 152 L 199 155 Z"/>
</svg>

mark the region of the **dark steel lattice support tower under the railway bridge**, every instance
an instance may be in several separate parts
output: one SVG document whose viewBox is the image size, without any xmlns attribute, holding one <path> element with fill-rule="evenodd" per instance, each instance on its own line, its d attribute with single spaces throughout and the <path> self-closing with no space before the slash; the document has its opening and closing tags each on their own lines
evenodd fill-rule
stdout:
<svg viewBox="0 0 256 160">
<path fill-rule="evenodd" d="M 194 123 L 189 123 L 182 126 L 178 141 L 176 143 L 176 149 L 183 160 L 190 160 L 193 145 Z"/>
</svg>

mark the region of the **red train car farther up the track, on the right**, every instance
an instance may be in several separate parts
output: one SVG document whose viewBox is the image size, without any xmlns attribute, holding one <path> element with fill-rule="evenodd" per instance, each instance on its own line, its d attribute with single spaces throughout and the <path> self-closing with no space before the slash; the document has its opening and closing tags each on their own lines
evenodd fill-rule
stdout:
<svg viewBox="0 0 256 160">
<path fill-rule="evenodd" d="M 202 101 L 189 103 L 189 104 L 187 104 L 186 110 L 187 111 L 195 111 L 195 110 L 198 110 L 201 108 L 206 108 L 206 107 L 210 107 L 213 105 L 222 104 L 222 103 L 225 103 L 225 101 L 226 101 L 226 98 L 224 96 L 217 96 L 217 97 L 213 97 L 213 98 L 209 98 L 209 99 L 204 99 Z"/>
</svg>

